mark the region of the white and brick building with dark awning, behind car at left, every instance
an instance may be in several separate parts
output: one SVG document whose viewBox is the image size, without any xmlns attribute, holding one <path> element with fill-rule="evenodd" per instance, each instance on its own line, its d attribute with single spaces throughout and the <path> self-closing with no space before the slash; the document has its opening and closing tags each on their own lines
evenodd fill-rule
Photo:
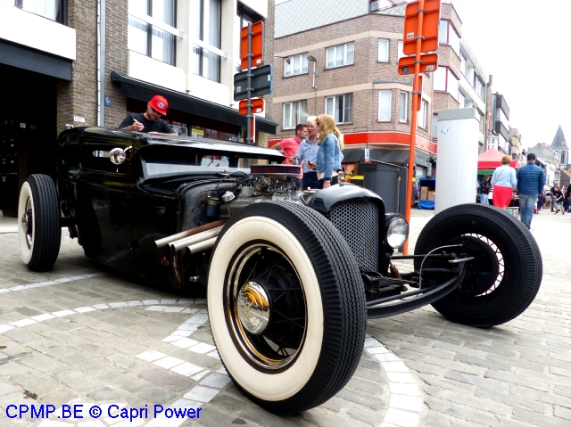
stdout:
<svg viewBox="0 0 571 427">
<path fill-rule="evenodd" d="M 11 165 L 0 162 L 0 199 L 12 200 L 19 188 L 13 182 L 21 185 L 29 173 L 54 173 L 55 136 L 66 127 L 117 127 L 128 112 L 145 111 L 154 94 L 169 101 L 165 119 L 180 135 L 242 140 L 246 120 L 233 96 L 240 30 L 265 22 L 271 63 L 274 5 L 0 0 L 0 77 L 12 88 L 10 102 L 0 105 L 0 134 L 3 141 L 16 135 L 17 145 L 11 152 L 0 145 Z M 256 118 L 258 144 L 276 133 L 271 96 L 266 105 L 265 117 Z M 38 155 L 41 162 L 30 162 Z"/>
</svg>

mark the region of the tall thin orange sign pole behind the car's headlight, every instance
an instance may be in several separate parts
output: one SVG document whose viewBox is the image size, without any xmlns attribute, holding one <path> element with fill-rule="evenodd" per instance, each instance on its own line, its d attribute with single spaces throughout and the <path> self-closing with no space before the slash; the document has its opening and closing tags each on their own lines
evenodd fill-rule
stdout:
<svg viewBox="0 0 571 427">
<path fill-rule="evenodd" d="M 422 102 L 422 92 L 420 83 L 420 53 L 421 53 L 421 36 L 422 31 L 422 21 L 425 14 L 425 0 L 419 0 L 418 4 L 418 26 L 417 26 L 417 50 L 415 52 L 415 62 L 414 62 L 414 80 L 412 84 L 412 118 L 410 120 L 410 148 L 409 148 L 409 176 L 407 179 L 407 201 L 404 204 L 404 218 L 410 224 L 410 201 L 412 200 L 412 171 L 414 168 L 414 152 L 417 141 L 417 116 L 418 116 L 418 106 Z M 407 240 L 402 246 L 402 255 L 409 254 L 409 240 Z"/>
</svg>

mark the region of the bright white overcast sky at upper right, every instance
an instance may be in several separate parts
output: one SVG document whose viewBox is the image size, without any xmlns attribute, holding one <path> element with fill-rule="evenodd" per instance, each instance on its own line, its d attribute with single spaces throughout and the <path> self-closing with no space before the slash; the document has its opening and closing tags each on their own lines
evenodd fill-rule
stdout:
<svg viewBox="0 0 571 427">
<path fill-rule="evenodd" d="M 283 3 L 284 0 L 276 0 Z M 312 1 L 312 0 L 307 0 Z M 362 1 L 362 0 L 355 0 Z M 571 0 L 452 0 L 462 37 L 503 94 L 524 148 L 571 138 Z"/>
</svg>

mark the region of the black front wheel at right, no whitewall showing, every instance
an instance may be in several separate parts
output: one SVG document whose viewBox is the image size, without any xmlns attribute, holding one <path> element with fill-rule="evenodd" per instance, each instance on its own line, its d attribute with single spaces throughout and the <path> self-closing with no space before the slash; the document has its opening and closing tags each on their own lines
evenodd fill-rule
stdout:
<svg viewBox="0 0 571 427">
<path fill-rule="evenodd" d="M 506 323 L 523 313 L 542 282 L 542 256 L 525 226 L 501 209 L 476 203 L 454 206 L 426 224 L 415 253 L 459 243 L 461 248 L 443 250 L 475 259 L 468 263 L 459 288 L 433 307 L 451 321 L 482 327 Z M 415 259 L 415 268 L 421 262 Z M 426 259 L 426 267 L 450 265 Z"/>
</svg>

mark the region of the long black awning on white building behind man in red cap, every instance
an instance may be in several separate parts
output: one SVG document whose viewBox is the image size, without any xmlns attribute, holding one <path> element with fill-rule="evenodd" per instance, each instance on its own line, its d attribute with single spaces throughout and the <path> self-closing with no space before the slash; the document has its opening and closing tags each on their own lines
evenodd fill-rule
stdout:
<svg viewBox="0 0 571 427">
<path fill-rule="evenodd" d="M 128 98 L 147 102 L 155 94 L 161 94 L 169 100 L 169 108 L 246 127 L 246 117 L 226 105 L 211 103 L 190 94 L 182 94 L 137 78 L 130 78 L 116 71 L 111 72 L 111 80 L 120 85 L 121 94 Z M 256 117 L 256 129 L 266 134 L 276 135 L 277 122 Z"/>
</svg>

